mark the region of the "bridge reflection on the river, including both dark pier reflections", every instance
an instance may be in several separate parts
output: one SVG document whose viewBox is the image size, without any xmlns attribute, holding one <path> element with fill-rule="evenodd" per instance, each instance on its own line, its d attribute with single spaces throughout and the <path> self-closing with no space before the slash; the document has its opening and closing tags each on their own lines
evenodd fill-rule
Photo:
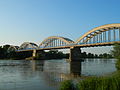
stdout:
<svg viewBox="0 0 120 90">
<path fill-rule="evenodd" d="M 49 84 L 56 84 L 63 80 L 74 79 L 81 76 L 81 60 L 69 61 L 65 63 L 60 60 L 31 61 L 32 71 L 42 71 L 45 81 Z"/>
</svg>

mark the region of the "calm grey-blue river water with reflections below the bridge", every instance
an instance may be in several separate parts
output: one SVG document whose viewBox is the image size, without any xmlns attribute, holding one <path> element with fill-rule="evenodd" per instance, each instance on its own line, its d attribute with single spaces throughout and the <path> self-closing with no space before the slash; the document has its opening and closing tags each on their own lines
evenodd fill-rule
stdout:
<svg viewBox="0 0 120 90">
<path fill-rule="evenodd" d="M 63 80 L 116 71 L 115 59 L 0 60 L 0 90 L 57 90 Z"/>
</svg>

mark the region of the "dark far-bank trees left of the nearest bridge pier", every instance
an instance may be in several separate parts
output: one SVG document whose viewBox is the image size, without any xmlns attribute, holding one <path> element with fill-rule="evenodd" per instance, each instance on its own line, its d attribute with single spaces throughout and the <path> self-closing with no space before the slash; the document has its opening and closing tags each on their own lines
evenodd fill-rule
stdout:
<svg viewBox="0 0 120 90">
<path fill-rule="evenodd" d="M 32 57 L 33 52 L 15 52 L 15 50 L 8 51 L 10 45 L 0 46 L 0 59 L 26 59 Z M 42 51 L 37 52 L 36 57 L 34 59 L 62 59 L 69 57 L 67 54 L 64 54 L 58 50 L 50 50 L 48 52 Z"/>
</svg>

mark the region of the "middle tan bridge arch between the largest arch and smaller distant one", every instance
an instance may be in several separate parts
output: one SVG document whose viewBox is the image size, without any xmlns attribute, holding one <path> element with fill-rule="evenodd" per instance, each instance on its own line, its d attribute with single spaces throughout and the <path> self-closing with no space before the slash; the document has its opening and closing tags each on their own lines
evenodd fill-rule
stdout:
<svg viewBox="0 0 120 90">
<path fill-rule="evenodd" d="M 51 36 L 42 41 L 39 48 L 59 47 L 74 43 L 73 40 L 60 36 Z"/>
</svg>

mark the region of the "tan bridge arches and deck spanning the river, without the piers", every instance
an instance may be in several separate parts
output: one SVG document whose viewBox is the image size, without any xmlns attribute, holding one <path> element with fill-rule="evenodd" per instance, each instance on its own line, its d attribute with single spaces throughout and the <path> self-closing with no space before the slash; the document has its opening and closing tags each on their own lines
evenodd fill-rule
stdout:
<svg viewBox="0 0 120 90">
<path fill-rule="evenodd" d="M 115 42 L 120 43 L 120 23 L 106 24 L 96 27 L 85 33 L 77 41 L 60 36 L 51 36 L 43 40 L 39 46 L 35 43 L 25 42 L 18 50 L 105 46 L 112 45 Z"/>
</svg>

